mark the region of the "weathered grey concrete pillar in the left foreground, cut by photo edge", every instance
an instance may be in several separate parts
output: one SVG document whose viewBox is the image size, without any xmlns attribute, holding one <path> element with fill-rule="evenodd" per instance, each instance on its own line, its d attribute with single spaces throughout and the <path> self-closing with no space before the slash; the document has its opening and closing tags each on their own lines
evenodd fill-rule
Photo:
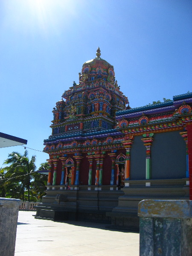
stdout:
<svg viewBox="0 0 192 256">
<path fill-rule="evenodd" d="M 20 199 L 0 198 L 0 256 L 14 256 Z"/>
</svg>

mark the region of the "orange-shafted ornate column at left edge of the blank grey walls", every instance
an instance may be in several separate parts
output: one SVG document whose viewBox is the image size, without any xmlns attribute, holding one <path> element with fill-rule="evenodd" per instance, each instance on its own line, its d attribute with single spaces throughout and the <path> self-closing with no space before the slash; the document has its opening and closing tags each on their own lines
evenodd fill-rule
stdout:
<svg viewBox="0 0 192 256">
<path fill-rule="evenodd" d="M 130 150 L 133 144 L 134 136 L 125 137 L 125 141 L 122 141 L 124 148 L 126 149 L 126 159 L 125 159 L 125 180 L 130 179 Z M 117 177 L 118 179 L 118 177 Z"/>
</svg>

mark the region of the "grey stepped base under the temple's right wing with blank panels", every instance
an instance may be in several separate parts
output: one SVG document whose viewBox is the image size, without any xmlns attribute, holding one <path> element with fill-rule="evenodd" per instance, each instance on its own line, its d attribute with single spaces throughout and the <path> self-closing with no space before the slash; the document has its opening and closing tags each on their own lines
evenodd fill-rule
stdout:
<svg viewBox="0 0 192 256">
<path fill-rule="evenodd" d="M 143 199 L 189 199 L 189 186 L 185 179 L 125 180 L 122 188 L 124 195 L 119 196 L 118 206 L 106 215 L 111 217 L 111 225 L 125 227 L 128 230 L 139 230 L 138 204 Z"/>
</svg>

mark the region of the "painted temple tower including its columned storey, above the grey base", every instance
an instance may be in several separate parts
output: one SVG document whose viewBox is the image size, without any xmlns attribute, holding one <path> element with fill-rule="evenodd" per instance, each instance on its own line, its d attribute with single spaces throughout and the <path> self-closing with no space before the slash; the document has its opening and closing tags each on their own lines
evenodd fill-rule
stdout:
<svg viewBox="0 0 192 256">
<path fill-rule="evenodd" d="M 114 161 L 117 155 L 111 149 L 123 148 L 119 144 L 123 138 L 119 139 L 117 135 L 124 137 L 116 131 L 116 112 L 125 110 L 129 102 L 119 90 L 113 66 L 100 55 L 98 48 L 96 58 L 83 64 L 79 84 L 73 81 L 73 86 L 63 93 L 62 99 L 53 108 L 52 135 L 44 140 L 44 151 L 49 154 L 50 164 L 48 185 L 68 186 L 69 181 L 70 185 L 79 185 L 79 173 L 82 184 L 102 185 L 102 167 L 106 156 L 110 161 L 113 158 L 113 168 L 111 177 L 104 177 L 104 181 L 107 179 L 104 183 L 116 185 Z M 116 145 L 111 147 L 113 134 Z M 69 157 L 70 165 L 67 164 Z M 59 162 L 62 163 L 59 165 Z"/>
</svg>

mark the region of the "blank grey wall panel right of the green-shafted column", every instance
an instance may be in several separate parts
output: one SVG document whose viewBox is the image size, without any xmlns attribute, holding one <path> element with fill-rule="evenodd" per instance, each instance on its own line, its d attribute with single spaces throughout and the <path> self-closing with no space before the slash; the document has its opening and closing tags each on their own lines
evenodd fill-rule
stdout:
<svg viewBox="0 0 192 256">
<path fill-rule="evenodd" d="M 186 177 L 186 143 L 179 132 L 154 134 L 151 146 L 151 179 Z"/>
</svg>

